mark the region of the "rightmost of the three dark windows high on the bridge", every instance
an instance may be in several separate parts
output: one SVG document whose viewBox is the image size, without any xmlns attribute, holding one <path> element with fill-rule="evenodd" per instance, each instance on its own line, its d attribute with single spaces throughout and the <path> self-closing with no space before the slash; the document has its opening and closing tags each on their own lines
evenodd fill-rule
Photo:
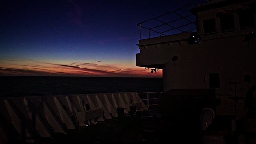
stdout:
<svg viewBox="0 0 256 144">
<path fill-rule="evenodd" d="M 254 26 L 254 12 L 246 11 L 238 13 L 239 27 L 246 28 Z"/>
</svg>

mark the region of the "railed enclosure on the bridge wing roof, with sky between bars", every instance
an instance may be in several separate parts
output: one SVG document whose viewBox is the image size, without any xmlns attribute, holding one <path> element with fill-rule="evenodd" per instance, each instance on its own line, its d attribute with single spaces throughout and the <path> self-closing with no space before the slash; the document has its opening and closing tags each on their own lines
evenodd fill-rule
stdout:
<svg viewBox="0 0 256 144">
<path fill-rule="evenodd" d="M 193 7 L 191 7 L 191 6 L 193 6 Z M 187 6 L 179 8 L 172 12 L 165 13 L 165 14 L 155 17 L 153 19 L 146 20 L 146 21 L 143 21 L 143 22 L 137 24 L 137 26 L 140 27 L 140 39 L 142 39 L 141 28 L 148 29 L 148 38 L 150 38 L 150 31 L 158 33 L 158 34 L 160 34 L 160 36 L 161 35 L 166 36 L 166 35 L 175 34 L 175 33 L 183 33 L 183 32 L 193 31 L 193 30 L 197 29 L 195 15 L 190 13 L 186 16 L 182 16 L 179 13 L 177 13 L 178 11 L 183 10 L 182 13 L 184 14 L 184 12 L 185 12 L 184 9 L 186 9 L 186 8 L 191 9 L 191 8 L 194 8 L 195 6 L 196 6 L 196 4 L 189 4 Z M 189 10 L 187 10 L 187 11 L 189 12 Z M 173 14 L 174 14 L 174 16 L 173 16 Z M 166 19 L 166 18 L 164 18 L 164 16 L 168 16 L 168 15 L 171 16 L 172 19 L 175 19 L 175 18 L 176 19 L 169 21 L 169 22 L 164 22 L 169 19 L 169 17 L 168 17 L 168 19 Z M 191 18 L 193 21 L 189 20 Z M 164 19 L 164 20 L 161 20 L 161 19 Z M 154 20 L 154 22 L 152 22 L 153 20 Z M 160 22 L 161 24 L 156 25 L 156 22 L 158 22 L 158 23 Z M 174 22 L 176 22 L 177 24 L 175 24 Z M 153 25 L 156 25 L 156 26 L 152 27 L 152 25 L 150 24 L 151 28 L 147 28 L 147 26 L 144 26 L 144 24 L 147 25 L 147 23 L 151 23 L 151 24 L 153 23 Z M 172 25 L 171 25 L 171 23 L 172 23 Z M 142 24 L 143 24 L 143 26 L 142 26 Z M 168 27 L 166 28 L 165 26 L 168 26 Z M 187 27 L 185 27 L 185 26 L 187 26 Z M 176 32 L 170 33 L 170 31 L 173 32 L 173 30 L 176 30 Z M 161 31 L 161 32 L 159 32 L 159 31 Z M 167 32 L 169 32 L 169 34 L 167 34 Z"/>
</svg>

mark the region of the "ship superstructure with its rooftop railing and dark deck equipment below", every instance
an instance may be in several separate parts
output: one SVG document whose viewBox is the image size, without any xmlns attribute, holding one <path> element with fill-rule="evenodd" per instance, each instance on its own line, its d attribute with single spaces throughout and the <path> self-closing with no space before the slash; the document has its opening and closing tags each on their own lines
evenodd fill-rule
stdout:
<svg viewBox="0 0 256 144">
<path fill-rule="evenodd" d="M 216 0 L 196 5 L 190 9 L 195 22 L 189 19 L 191 15 L 177 11 L 172 11 L 178 15 L 174 20 L 151 19 L 161 22 L 159 26 L 145 27 L 150 20 L 138 24 L 140 35 L 146 29 L 149 37 L 141 36 L 137 44 L 137 66 L 151 73 L 158 69 L 163 72 L 161 115 L 179 120 L 189 116 L 186 125 L 195 125 L 193 117 L 199 118 L 197 114 L 202 112 L 201 124 L 203 121 L 206 127 L 214 126 L 207 130 L 201 125 L 201 143 L 256 143 L 255 0 Z M 172 24 L 181 19 L 185 23 Z M 161 26 L 170 29 L 155 30 Z M 190 30 L 182 29 L 184 26 Z M 179 33 L 166 34 L 172 30 Z M 152 37 L 150 32 L 158 36 Z M 215 124 L 209 120 L 214 114 L 218 117 Z M 223 133 L 221 136 L 220 130 L 225 130 L 229 138 Z M 243 136 L 245 140 L 241 140 Z"/>
</svg>

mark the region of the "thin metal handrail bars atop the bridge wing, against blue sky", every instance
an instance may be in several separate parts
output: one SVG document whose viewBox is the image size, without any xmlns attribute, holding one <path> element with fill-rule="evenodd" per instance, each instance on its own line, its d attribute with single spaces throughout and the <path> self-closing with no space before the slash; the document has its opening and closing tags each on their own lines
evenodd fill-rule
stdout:
<svg viewBox="0 0 256 144">
<path fill-rule="evenodd" d="M 180 10 L 180 9 L 186 8 L 186 7 L 191 6 L 191 5 L 196 6 L 196 4 L 189 4 L 189 5 L 184 6 L 184 7 L 182 7 L 182 8 L 176 9 L 176 10 L 174 10 L 174 11 L 172 11 L 172 12 L 168 12 L 168 13 L 165 13 L 165 14 L 163 14 L 163 15 L 160 15 L 160 16 L 157 16 L 157 17 L 155 17 L 155 18 L 150 19 L 150 20 L 157 20 L 157 21 L 163 23 L 163 24 L 158 25 L 158 26 L 155 26 L 155 27 L 153 27 L 153 28 L 146 28 L 146 27 L 142 26 L 142 23 L 148 22 L 148 21 L 150 21 L 150 20 L 146 20 L 146 21 L 143 21 L 143 22 L 141 22 L 141 23 L 138 23 L 137 26 L 140 27 L 140 39 L 142 38 L 141 28 L 148 29 L 149 38 L 150 38 L 150 31 L 156 32 L 156 33 L 160 34 L 160 36 L 161 36 L 161 35 L 166 36 L 166 35 L 164 34 L 165 32 L 168 32 L 168 31 L 171 31 L 171 30 L 174 30 L 174 29 L 179 30 L 181 33 L 187 32 L 187 31 L 190 31 L 190 30 L 197 29 L 197 28 L 192 28 L 192 29 L 189 29 L 189 30 L 186 30 L 186 31 L 183 31 L 183 30 L 179 29 L 180 27 L 184 27 L 184 26 L 187 26 L 187 25 L 189 25 L 189 24 L 194 24 L 194 25 L 196 25 L 196 21 L 195 21 L 195 22 L 192 22 L 192 21 L 190 21 L 190 20 L 187 19 L 187 17 L 192 16 L 193 14 L 190 14 L 190 15 L 187 15 L 187 16 L 181 16 L 180 14 L 178 14 L 178 13 L 176 12 L 176 11 L 178 11 L 178 10 Z M 175 13 L 176 15 L 180 16 L 181 18 L 176 19 L 176 20 L 172 20 L 172 21 L 170 21 L 170 22 L 163 22 L 163 21 L 157 19 L 157 18 L 160 18 L 160 17 L 162 17 L 162 16 L 164 16 L 164 15 L 167 15 L 167 14 L 170 14 L 170 13 Z M 177 20 L 181 20 L 181 19 L 185 19 L 185 20 L 187 20 L 187 21 L 190 22 L 190 23 L 185 24 L 185 25 L 182 25 L 182 26 L 179 26 L 179 27 L 174 27 L 174 26 L 170 25 L 170 23 L 172 23 L 172 22 L 174 22 L 174 21 L 177 21 Z M 154 28 L 158 28 L 158 27 L 161 27 L 161 26 L 163 26 L 163 25 L 167 25 L 167 26 L 170 26 L 170 27 L 172 27 L 172 28 L 169 29 L 169 30 L 165 30 L 165 31 L 163 31 L 163 32 L 158 32 L 158 31 L 156 31 L 156 30 L 153 30 Z"/>
</svg>

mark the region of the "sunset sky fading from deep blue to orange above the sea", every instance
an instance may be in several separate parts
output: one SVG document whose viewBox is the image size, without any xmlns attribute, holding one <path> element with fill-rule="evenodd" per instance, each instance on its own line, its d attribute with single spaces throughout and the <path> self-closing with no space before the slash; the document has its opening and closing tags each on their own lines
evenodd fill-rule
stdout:
<svg viewBox="0 0 256 144">
<path fill-rule="evenodd" d="M 136 67 L 136 24 L 206 0 L 0 2 L 0 76 L 162 77 Z"/>
</svg>

